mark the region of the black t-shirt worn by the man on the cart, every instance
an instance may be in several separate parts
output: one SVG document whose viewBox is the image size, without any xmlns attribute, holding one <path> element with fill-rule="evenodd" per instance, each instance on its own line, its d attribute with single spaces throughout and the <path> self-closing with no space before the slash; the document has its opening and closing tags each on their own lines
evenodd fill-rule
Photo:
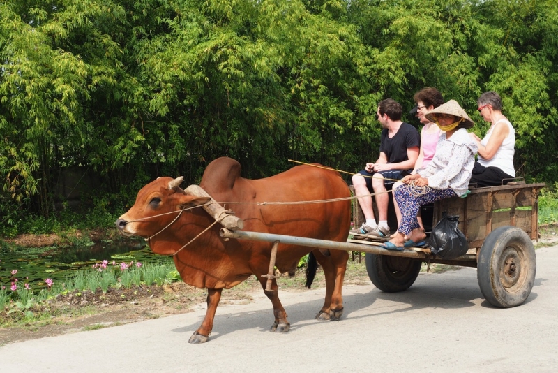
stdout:
<svg viewBox="0 0 558 373">
<path fill-rule="evenodd" d="M 389 138 L 388 129 L 382 129 L 379 151 L 386 153 L 388 163 L 408 161 L 407 149 L 420 146 L 421 135 L 411 124 L 403 122 L 393 138 Z"/>
</svg>

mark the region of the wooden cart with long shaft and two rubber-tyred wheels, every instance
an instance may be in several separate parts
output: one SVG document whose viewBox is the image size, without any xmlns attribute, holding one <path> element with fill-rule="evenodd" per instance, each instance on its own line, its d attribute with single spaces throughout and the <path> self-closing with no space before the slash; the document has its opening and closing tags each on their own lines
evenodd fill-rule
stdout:
<svg viewBox="0 0 558 373">
<path fill-rule="evenodd" d="M 538 192 L 545 184 L 513 182 L 506 186 L 472 189 L 465 198 L 453 197 L 434 203 L 432 224 L 423 214 L 425 226 L 435 226 L 442 213 L 459 215 L 459 229 L 467 237 L 469 251 L 455 259 L 442 259 L 428 248 L 403 251 L 384 249 L 382 242 L 349 239 L 347 242 L 315 240 L 288 235 L 274 235 L 221 229 L 221 236 L 243 240 L 262 240 L 302 246 L 360 251 L 365 253 L 368 277 L 377 288 L 387 292 L 409 288 L 423 262 L 477 268 L 478 285 L 490 304 L 496 307 L 521 305 L 533 287 L 536 272 L 532 240 L 538 240 Z M 363 215 L 353 200 L 354 226 Z M 395 224 L 396 226 L 396 224 Z M 269 278 L 273 277 L 273 253 Z"/>
</svg>

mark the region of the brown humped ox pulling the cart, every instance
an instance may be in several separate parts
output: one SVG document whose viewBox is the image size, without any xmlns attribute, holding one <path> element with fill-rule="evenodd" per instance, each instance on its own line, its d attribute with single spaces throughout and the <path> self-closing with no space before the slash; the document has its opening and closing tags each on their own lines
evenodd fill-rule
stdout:
<svg viewBox="0 0 558 373">
<path fill-rule="evenodd" d="M 241 166 L 237 161 L 219 158 L 207 166 L 200 186 L 218 202 L 227 203 L 226 208 L 231 208 L 237 217 L 243 219 L 244 231 L 347 240 L 349 200 L 257 205 L 257 202 L 347 198 L 350 196 L 349 188 L 337 172 L 312 166 L 296 166 L 285 173 L 261 180 L 247 180 L 240 177 L 240 173 Z M 144 186 L 137 193 L 133 207 L 116 221 L 116 226 L 124 235 L 154 235 L 149 240 L 154 252 L 175 254 L 215 221 L 202 208 L 195 208 L 184 211 L 179 219 L 172 222 L 179 210 L 202 205 L 208 200 L 186 195 L 179 188 L 181 182 L 182 177 L 175 180 L 160 177 Z M 168 212 L 176 214 L 165 214 Z M 208 289 L 206 316 L 190 337 L 190 343 L 202 343 L 209 339 L 223 288 L 232 288 L 251 275 L 256 275 L 265 289 L 267 279 L 261 276 L 268 272 L 272 244 L 248 240 L 225 241 L 219 235 L 220 228 L 220 225 L 214 225 L 174 256 L 176 269 L 186 284 Z M 294 273 L 299 259 L 309 251 L 312 249 L 308 247 L 279 244 L 276 267 L 280 272 Z M 347 251 L 322 251 L 312 251 L 314 260 L 322 265 L 326 277 L 324 307 L 316 318 L 337 320 L 343 311 L 341 290 L 349 254 Z M 312 279 L 310 273 L 308 287 Z M 289 321 L 278 298 L 275 279 L 272 290 L 265 293 L 271 300 L 275 316 L 271 331 L 286 332 L 289 330 Z"/>
</svg>

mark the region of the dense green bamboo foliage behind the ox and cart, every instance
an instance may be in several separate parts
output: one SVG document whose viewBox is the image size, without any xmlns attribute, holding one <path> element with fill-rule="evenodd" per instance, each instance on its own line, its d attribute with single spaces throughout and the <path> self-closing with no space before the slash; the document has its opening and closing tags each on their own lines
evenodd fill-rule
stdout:
<svg viewBox="0 0 558 373">
<path fill-rule="evenodd" d="M 499 92 L 520 175 L 553 182 L 557 21 L 551 0 L 3 1 L 0 212 L 48 216 L 70 166 L 126 198 L 218 156 L 246 177 L 289 158 L 356 171 L 377 158 L 377 103 L 406 113 L 425 86 L 479 135 L 476 98 Z"/>
</svg>

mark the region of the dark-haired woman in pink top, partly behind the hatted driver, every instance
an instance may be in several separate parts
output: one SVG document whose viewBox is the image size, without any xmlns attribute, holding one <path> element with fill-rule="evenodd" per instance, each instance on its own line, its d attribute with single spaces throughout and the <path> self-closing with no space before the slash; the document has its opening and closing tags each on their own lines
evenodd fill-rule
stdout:
<svg viewBox="0 0 558 373">
<path fill-rule="evenodd" d="M 418 153 L 418 159 L 416 159 L 412 174 L 416 173 L 416 170 L 428 166 L 428 163 L 430 163 L 430 161 L 432 161 L 432 158 L 434 158 L 438 139 L 443 131 L 440 130 L 435 123 L 432 123 L 428 119 L 426 119 L 425 115 L 444 103 L 444 97 L 442 96 L 442 94 L 437 89 L 432 87 L 425 87 L 421 89 L 420 91 L 416 92 L 416 94 L 414 94 L 413 98 L 416 102 L 416 106 L 413 108 L 413 110 L 411 110 L 411 112 L 409 112 L 409 114 L 415 114 L 415 116 L 418 118 L 418 120 L 421 121 L 424 126 L 421 130 L 421 150 Z M 395 191 L 395 189 L 402 185 L 402 182 L 396 182 L 395 184 L 393 184 L 391 190 Z M 395 214 L 397 215 L 397 222 L 398 224 L 400 224 L 401 211 L 399 210 L 399 206 L 395 198 L 393 198 L 393 205 L 395 207 Z M 417 220 L 418 224 L 421 226 L 421 229 L 424 231 L 420 210 L 418 211 Z M 393 234 L 392 237 L 393 236 L 395 236 L 395 234 Z"/>
</svg>

